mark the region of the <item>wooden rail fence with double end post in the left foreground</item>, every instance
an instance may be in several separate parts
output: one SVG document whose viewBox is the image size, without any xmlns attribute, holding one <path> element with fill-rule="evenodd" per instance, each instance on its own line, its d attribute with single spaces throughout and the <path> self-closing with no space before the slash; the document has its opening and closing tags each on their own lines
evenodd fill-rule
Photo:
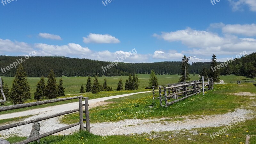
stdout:
<svg viewBox="0 0 256 144">
<path fill-rule="evenodd" d="M 74 113 L 74 112 L 79 111 L 79 117 L 80 117 L 79 122 L 77 122 L 75 124 L 70 124 L 68 126 L 65 126 L 63 128 L 59 128 L 57 130 L 53 130 L 51 132 L 46 132 L 44 134 L 40 134 L 36 137 L 28 138 L 27 140 L 17 142 L 15 144 L 28 144 L 30 142 L 39 140 L 41 138 L 47 137 L 47 136 L 52 135 L 52 134 L 57 133 L 57 132 L 64 131 L 66 129 L 72 128 L 72 127 L 77 126 L 77 125 L 80 125 L 80 130 L 86 129 L 86 131 L 90 132 L 88 97 L 76 96 L 76 97 L 70 97 L 70 98 L 44 100 L 44 101 L 38 101 L 38 102 L 31 102 L 31 103 L 25 103 L 25 104 L 5 106 L 5 107 L 0 107 L 0 112 L 1 111 L 12 110 L 12 109 L 27 108 L 27 107 L 37 106 L 37 105 L 43 105 L 43 104 L 48 104 L 48 103 L 53 103 L 53 102 L 58 102 L 58 101 L 74 100 L 74 99 L 79 99 L 79 108 L 77 108 L 77 109 L 61 112 L 61 113 L 58 113 L 58 114 L 54 114 L 52 116 L 45 116 L 45 117 L 41 117 L 41 118 L 36 118 L 34 120 L 26 120 L 26 121 L 22 121 L 22 122 L 18 122 L 18 123 L 3 125 L 3 126 L 0 126 L 0 131 L 7 130 L 7 129 L 10 129 L 10 128 L 13 128 L 13 127 L 16 127 L 16 126 L 31 124 L 31 123 L 35 123 L 35 122 L 39 122 L 39 121 L 43 121 L 43 120 L 46 120 L 46 119 L 50 119 L 50 118 L 54 118 L 54 117 L 57 117 L 57 116 L 62 116 L 62 115 L 66 115 L 66 114 L 70 114 L 70 113 Z M 83 104 L 83 99 L 84 99 L 84 102 L 85 102 L 84 104 Z M 83 111 L 83 106 L 85 106 L 85 111 Z M 83 113 L 85 113 L 85 119 L 84 119 L 84 114 Z M 86 121 L 86 126 L 84 126 L 84 121 Z"/>
</svg>

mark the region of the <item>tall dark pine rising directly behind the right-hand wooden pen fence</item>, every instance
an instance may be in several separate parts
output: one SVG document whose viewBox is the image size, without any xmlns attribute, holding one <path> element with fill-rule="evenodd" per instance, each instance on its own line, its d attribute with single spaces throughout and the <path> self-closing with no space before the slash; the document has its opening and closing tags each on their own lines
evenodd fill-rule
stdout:
<svg viewBox="0 0 256 144">
<path fill-rule="evenodd" d="M 189 70 L 188 70 L 188 58 L 186 57 L 186 55 L 183 56 L 182 60 L 181 60 L 181 71 L 180 71 L 180 79 L 179 82 L 184 82 L 185 81 L 185 68 L 186 68 L 186 81 L 190 80 L 191 78 L 189 78 Z"/>
</svg>

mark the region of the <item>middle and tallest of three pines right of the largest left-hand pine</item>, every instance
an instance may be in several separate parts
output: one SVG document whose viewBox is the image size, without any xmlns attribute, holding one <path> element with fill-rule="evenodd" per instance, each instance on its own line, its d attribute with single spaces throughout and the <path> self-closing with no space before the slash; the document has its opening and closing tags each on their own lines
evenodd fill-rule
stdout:
<svg viewBox="0 0 256 144">
<path fill-rule="evenodd" d="M 45 98 L 53 99 L 58 96 L 57 80 L 55 78 L 53 70 L 50 71 L 48 76 L 47 85 L 45 87 Z"/>
</svg>

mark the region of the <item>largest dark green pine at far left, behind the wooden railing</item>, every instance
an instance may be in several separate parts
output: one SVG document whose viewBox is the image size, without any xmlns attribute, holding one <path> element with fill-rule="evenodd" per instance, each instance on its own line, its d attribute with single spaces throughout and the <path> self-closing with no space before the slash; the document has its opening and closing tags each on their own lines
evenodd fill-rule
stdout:
<svg viewBox="0 0 256 144">
<path fill-rule="evenodd" d="M 27 81 L 27 73 L 22 64 L 17 68 L 15 78 L 12 82 L 10 97 L 13 104 L 21 104 L 25 100 L 31 98 L 30 87 Z"/>
</svg>

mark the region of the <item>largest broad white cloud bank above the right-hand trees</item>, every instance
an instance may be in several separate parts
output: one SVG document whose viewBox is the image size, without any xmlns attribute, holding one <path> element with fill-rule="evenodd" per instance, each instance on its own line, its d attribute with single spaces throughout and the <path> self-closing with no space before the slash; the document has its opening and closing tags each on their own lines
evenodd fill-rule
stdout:
<svg viewBox="0 0 256 144">
<path fill-rule="evenodd" d="M 219 25 L 222 24 L 219 23 Z M 217 24 L 214 26 L 219 27 Z M 180 41 L 189 48 L 193 48 L 181 53 L 191 55 L 211 56 L 213 53 L 218 55 L 236 55 L 245 50 L 249 53 L 256 50 L 256 40 L 253 38 L 238 38 L 230 34 L 219 36 L 212 32 L 198 31 L 191 28 L 175 32 L 162 32 L 161 35 L 154 34 L 153 36 L 169 42 Z"/>
</svg>

